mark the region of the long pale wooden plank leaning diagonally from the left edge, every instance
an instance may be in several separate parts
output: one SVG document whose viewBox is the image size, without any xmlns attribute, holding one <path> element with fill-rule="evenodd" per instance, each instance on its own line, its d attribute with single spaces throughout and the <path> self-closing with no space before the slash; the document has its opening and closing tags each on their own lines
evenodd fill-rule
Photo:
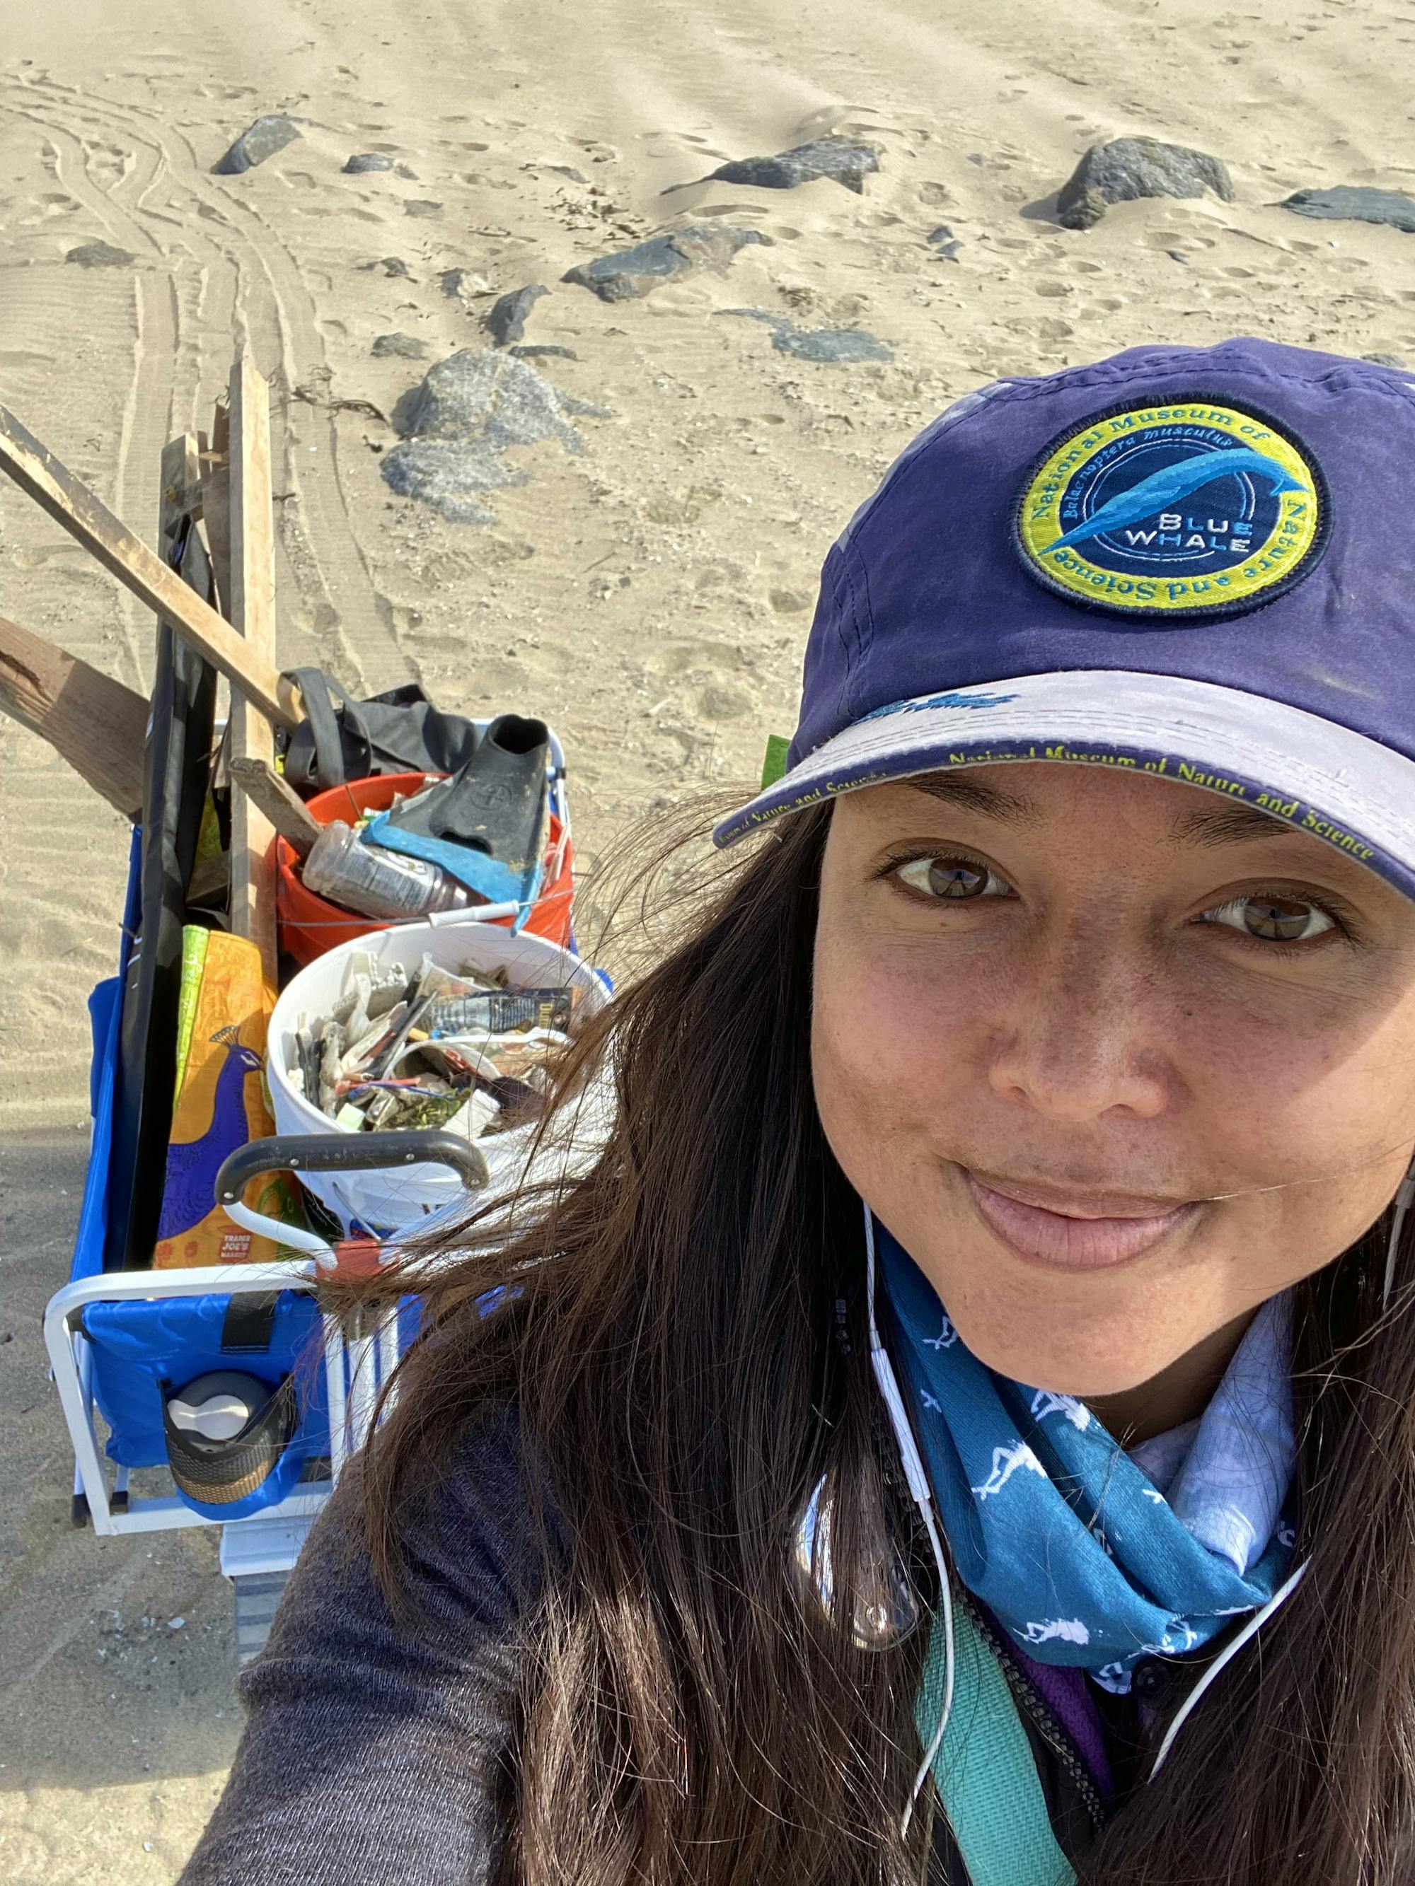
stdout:
<svg viewBox="0 0 1415 1886">
<path fill-rule="evenodd" d="M 15 415 L 0 405 L 0 472 L 62 524 L 111 575 L 221 670 L 275 726 L 300 719 L 298 688 L 258 645 L 247 647 L 230 622 L 168 570 L 94 494 L 74 477 Z"/>
</svg>

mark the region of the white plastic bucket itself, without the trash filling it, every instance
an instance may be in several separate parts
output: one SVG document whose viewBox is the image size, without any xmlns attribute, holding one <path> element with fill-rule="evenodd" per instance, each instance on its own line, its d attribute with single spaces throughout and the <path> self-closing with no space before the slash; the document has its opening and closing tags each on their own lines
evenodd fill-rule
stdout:
<svg viewBox="0 0 1415 1886">
<path fill-rule="evenodd" d="M 594 1015 L 609 1000 L 606 984 L 594 969 L 579 956 L 560 949 L 558 943 L 547 943 L 526 932 L 511 935 L 509 930 L 470 917 L 457 922 L 441 918 L 436 924 L 402 924 L 396 930 L 375 930 L 370 935 L 355 937 L 353 943 L 340 943 L 300 969 L 270 1017 L 266 1075 L 277 1133 L 353 1132 L 353 1128 L 336 1126 L 326 1113 L 304 1098 L 291 1079 L 291 1066 L 296 1060 L 296 1030 L 304 1024 L 323 1022 L 334 1011 L 343 994 L 349 956 L 355 952 L 372 956 L 379 966 L 396 964 L 409 973 L 421 968 L 426 954 L 453 971 L 464 964 L 477 969 L 506 969 L 509 981 L 519 988 L 579 988 L 583 990 L 575 1005 L 579 1017 Z M 598 1103 L 591 1096 L 589 1103 L 577 1109 L 575 1164 L 592 1150 L 606 1128 L 604 1096 L 598 1096 Z M 483 1188 L 483 1198 L 513 1192 L 524 1181 L 534 1135 L 532 1122 L 475 1141 L 491 1171 L 491 1184 Z M 441 1211 L 462 1196 L 462 1183 L 447 1166 L 426 1164 L 370 1173 L 300 1173 L 300 1183 L 328 1205 L 347 1233 L 372 1233 L 374 1237 L 389 1237 L 417 1226 L 428 1213 Z"/>
</svg>

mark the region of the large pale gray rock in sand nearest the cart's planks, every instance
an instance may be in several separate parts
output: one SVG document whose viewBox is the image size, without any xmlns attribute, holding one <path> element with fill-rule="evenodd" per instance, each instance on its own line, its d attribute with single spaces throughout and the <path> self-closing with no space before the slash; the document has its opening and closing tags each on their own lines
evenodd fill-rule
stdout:
<svg viewBox="0 0 1415 1886">
<path fill-rule="evenodd" d="M 524 360 L 464 347 L 428 368 L 400 417 L 406 438 L 379 470 L 400 496 L 421 498 L 455 524 L 491 524 L 496 515 L 481 494 L 526 477 L 506 462 L 508 447 L 558 439 L 579 453 L 581 438 L 566 419 L 574 409 L 592 411 L 564 400 Z"/>
</svg>

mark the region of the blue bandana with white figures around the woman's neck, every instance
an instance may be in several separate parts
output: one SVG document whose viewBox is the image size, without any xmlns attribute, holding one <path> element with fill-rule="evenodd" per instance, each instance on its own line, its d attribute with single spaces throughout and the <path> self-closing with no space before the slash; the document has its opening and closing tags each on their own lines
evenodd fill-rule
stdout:
<svg viewBox="0 0 1415 1886">
<path fill-rule="evenodd" d="M 1132 1460 L 1083 1401 L 985 1367 L 906 1250 L 883 1230 L 877 1249 L 953 1562 L 1028 1656 L 1124 1692 L 1141 1658 L 1192 1650 L 1274 1596 L 1294 1541 L 1287 1296 L 1253 1318 L 1200 1420 Z"/>
</svg>

